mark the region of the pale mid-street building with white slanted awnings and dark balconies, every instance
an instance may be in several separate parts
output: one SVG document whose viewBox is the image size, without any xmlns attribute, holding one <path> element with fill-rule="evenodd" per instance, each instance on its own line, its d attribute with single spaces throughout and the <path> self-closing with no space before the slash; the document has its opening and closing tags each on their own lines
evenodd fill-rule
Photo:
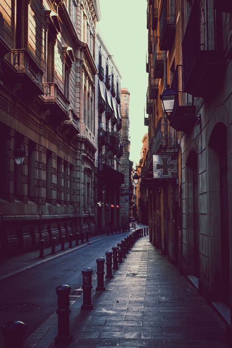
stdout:
<svg viewBox="0 0 232 348">
<path fill-rule="evenodd" d="M 120 115 L 121 75 L 99 34 L 95 56 L 98 75 L 95 77 L 95 113 L 98 134 L 97 152 L 97 228 L 98 232 L 119 229 L 122 145 Z"/>
</svg>

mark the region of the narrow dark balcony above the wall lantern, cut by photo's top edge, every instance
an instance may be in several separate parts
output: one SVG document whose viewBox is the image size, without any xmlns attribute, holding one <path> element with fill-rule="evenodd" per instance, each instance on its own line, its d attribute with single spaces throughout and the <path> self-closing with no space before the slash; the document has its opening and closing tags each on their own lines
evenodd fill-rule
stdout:
<svg viewBox="0 0 232 348">
<path fill-rule="evenodd" d="M 169 50 L 175 38 L 175 1 L 163 0 L 160 14 L 160 49 Z"/>
</svg>

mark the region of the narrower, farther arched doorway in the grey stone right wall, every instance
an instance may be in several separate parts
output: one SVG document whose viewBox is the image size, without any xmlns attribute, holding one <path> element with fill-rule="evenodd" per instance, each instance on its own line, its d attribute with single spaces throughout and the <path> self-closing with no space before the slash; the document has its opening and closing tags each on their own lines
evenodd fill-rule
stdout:
<svg viewBox="0 0 232 348">
<path fill-rule="evenodd" d="M 191 151 L 187 159 L 189 271 L 197 278 L 200 277 L 198 175 L 197 154 Z"/>
</svg>

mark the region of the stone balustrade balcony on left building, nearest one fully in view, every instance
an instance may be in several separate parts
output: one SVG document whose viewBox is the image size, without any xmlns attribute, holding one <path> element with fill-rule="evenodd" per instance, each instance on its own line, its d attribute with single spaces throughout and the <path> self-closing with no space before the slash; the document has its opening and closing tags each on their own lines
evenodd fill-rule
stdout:
<svg viewBox="0 0 232 348">
<path fill-rule="evenodd" d="M 43 71 L 26 49 L 11 49 L 11 64 L 16 70 L 17 82 L 23 85 L 24 95 L 43 94 Z"/>
</svg>

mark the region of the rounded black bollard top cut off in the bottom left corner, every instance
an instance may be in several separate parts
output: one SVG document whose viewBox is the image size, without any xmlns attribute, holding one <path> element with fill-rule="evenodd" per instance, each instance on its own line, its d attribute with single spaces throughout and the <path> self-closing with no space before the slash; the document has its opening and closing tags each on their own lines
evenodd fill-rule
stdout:
<svg viewBox="0 0 232 348">
<path fill-rule="evenodd" d="M 19 320 L 6 322 L 2 326 L 2 333 L 5 340 L 5 348 L 23 348 L 23 336 L 26 332 L 26 325 Z"/>
</svg>

